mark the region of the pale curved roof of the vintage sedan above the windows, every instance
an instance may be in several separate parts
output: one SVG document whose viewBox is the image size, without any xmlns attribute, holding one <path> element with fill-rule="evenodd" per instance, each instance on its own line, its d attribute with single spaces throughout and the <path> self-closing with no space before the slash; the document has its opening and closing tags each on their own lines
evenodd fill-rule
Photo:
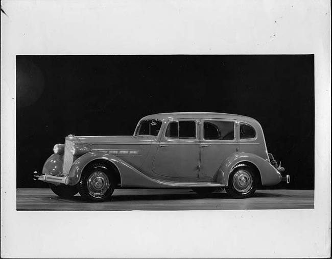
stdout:
<svg viewBox="0 0 332 259">
<path fill-rule="evenodd" d="M 169 113 L 157 113 L 145 116 L 142 119 L 184 119 L 184 118 L 212 118 L 212 119 L 237 119 L 237 120 L 245 120 L 245 121 L 255 121 L 255 119 L 238 115 L 238 114 L 230 114 L 230 113 L 217 113 L 217 112 L 169 112 Z"/>
</svg>

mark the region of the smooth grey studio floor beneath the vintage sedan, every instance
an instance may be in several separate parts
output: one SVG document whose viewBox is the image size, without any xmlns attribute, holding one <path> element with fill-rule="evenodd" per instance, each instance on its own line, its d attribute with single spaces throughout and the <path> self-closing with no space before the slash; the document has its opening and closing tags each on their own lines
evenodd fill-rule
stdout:
<svg viewBox="0 0 332 259">
<path fill-rule="evenodd" d="M 79 194 L 64 199 L 51 189 L 17 189 L 18 211 L 183 211 L 313 209 L 314 190 L 256 190 L 251 198 L 232 199 L 220 190 L 199 195 L 187 189 L 116 189 L 110 201 L 86 202 Z"/>
</svg>

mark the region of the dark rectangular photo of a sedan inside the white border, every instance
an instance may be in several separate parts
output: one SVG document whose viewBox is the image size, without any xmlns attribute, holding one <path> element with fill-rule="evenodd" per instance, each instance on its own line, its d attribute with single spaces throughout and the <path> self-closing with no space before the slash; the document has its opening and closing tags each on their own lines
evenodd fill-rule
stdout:
<svg viewBox="0 0 332 259">
<path fill-rule="evenodd" d="M 314 55 L 16 56 L 16 210 L 314 208 Z"/>
</svg>

